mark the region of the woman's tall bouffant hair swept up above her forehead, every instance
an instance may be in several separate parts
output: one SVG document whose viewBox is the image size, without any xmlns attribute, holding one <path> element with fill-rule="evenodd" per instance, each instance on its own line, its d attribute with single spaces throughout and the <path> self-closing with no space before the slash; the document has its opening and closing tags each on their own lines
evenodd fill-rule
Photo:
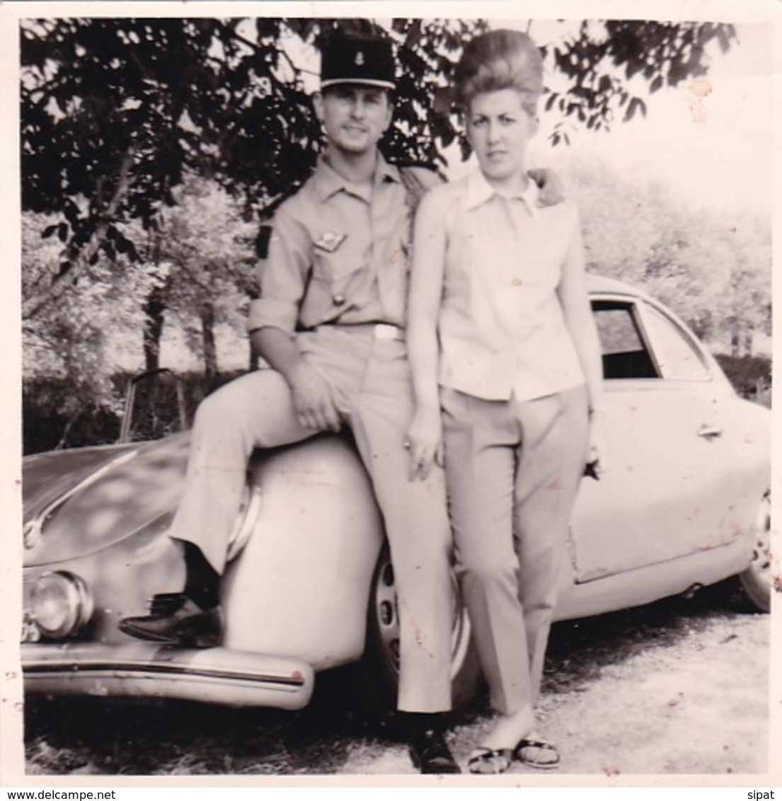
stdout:
<svg viewBox="0 0 782 801">
<path fill-rule="evenodd" d="M 515 89 L 534 117 L 543 93 L 543 59 L 538 46 L 520 30 L 490 30 L 467 43 L 454 75 L 462 109 L 482 92 Z"/>
</svg>

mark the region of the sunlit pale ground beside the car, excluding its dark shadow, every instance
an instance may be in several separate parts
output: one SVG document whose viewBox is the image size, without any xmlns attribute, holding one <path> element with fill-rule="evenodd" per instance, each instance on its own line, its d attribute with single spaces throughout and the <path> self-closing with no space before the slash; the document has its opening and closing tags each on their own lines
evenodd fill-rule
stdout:
<svg viewBox="0 0 782 801">
<path fill-rule="evenodd" d="M 651 646 L 601 667 L 582 685 L 544 695 L 538 716 L 561 751 L 557 772 L 765 773 L 768 640 L 768 618 L 715 619 L 675 644 Z M 489 724 L 485 717 L 453 732 L 462 764 Z M 382 755 L 359 751 L 343 770 L 411 772 L 403 748 Z"/>
</svg>

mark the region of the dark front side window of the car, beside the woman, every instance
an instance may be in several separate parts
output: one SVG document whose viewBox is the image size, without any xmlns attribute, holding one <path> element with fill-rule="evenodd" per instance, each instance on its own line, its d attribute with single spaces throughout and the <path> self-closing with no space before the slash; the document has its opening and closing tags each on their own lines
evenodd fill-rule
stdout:
<svg viewBox="0 0 782 801">
<path fill-rule="evenodd" d="M 592 312 L 603 353 L 604 378 L 660 377 L 641 334 L 635 304 L 593 300 Z"/>
</svg>

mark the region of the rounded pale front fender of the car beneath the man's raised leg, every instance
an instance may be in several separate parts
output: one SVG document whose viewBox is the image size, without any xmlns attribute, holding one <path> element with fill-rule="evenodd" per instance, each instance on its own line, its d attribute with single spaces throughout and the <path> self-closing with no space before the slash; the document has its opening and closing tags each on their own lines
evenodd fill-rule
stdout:
<svg viewBox="0 0 782 801">
<path fill-rule="evenodd" d="M 322 435 L 254 464 L 260 510 L 223 582 L 224 645 L 324 670 L 361 658 L 384 538 L 351 443 Z"/>
</svg>

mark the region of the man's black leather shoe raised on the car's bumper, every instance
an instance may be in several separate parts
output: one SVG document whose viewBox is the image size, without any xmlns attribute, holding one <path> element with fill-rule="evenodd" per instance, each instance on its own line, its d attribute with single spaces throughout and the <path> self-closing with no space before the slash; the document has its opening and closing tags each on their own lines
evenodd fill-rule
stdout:
<svg viewBox="0 0 782 801">
<path fill-rule="evenodd" d="M 183 593 L 155 595 L 150 614 L 120 620 L 119 630 L 139 640 L 187 648 L 212 648 L 223 636 L 220 607 L 201 609 Z"/>
</svg>

